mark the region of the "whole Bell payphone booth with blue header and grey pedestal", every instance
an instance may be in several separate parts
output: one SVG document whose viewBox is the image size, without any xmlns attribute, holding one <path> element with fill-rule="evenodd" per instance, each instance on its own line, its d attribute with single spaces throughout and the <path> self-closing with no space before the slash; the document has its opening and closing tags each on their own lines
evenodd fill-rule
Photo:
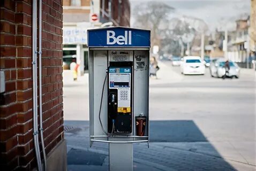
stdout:
<svg viewBox="0 0 256 171">
<path fill-rule="evenodd" d="M 109 143 L 109 170 L 132 170 L 133 143 L 149 142 L 150 30 L 88 30 L 90 145 Z"/>
</svg>

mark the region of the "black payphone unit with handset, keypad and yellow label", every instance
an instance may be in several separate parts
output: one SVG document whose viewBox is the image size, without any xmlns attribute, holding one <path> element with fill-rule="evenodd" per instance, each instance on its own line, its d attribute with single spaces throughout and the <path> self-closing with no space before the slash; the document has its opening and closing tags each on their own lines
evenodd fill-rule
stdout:
<svg viewBox="0 0 256 171">
<path fill-rule="evenodd" d="M 110 63 L 108 69 L 108 133 L 132 133 L 131 81 L 132 63 Z"/>
</svg>

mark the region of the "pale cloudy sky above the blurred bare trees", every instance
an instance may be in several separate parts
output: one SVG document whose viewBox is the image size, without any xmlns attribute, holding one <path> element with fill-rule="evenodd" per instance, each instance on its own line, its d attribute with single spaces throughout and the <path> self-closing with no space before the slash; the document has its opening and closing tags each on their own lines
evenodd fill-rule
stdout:
<svg viewBox="0 0 256 171">
<path fill-rule="evenodd" d="M 157 1 L 157 0 L 154 0 Z M 134 6 L 147 3 L 150 0 L 130 0 L 131 3 L 131 26 L 134 23 Z M 158 0 L 175 8 L 172 17 L 191 16 L 200 18 L 206 22 L 210 31 L 215 28 L 223 29 L 228 26 L 234 30 L 235 21 L 250 14 L 251 0 Z"/>
</svg>

